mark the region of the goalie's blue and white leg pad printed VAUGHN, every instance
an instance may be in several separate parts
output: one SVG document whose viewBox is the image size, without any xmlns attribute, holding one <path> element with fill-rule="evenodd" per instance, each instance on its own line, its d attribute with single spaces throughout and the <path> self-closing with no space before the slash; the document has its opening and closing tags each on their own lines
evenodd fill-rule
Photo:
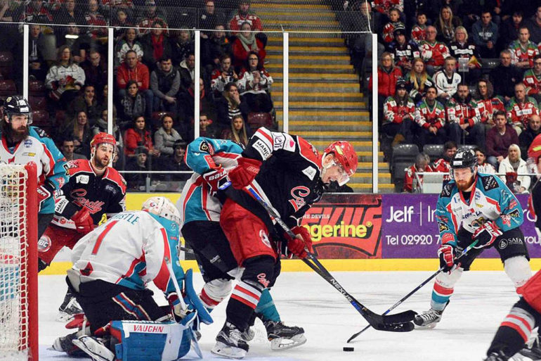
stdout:
<svg viewBox="0 0 541 361">
<path fill-rule="evenodd" d="M 189 325 L 176 322 L 113 321 L 111 336 L 122 361 L 173 361 L 190 351 Z"/>
</svg>

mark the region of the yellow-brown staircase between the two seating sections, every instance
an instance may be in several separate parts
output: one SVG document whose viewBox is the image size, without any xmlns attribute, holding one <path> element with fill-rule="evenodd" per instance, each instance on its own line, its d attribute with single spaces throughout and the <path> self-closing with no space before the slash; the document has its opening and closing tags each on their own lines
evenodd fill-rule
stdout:
<svg viewBox="0 0 541 361">
<path fill-rule="evenodd" d="M 264 2 L 264 4 L 263 4 Z M 252 1 L 266 31 L 334 31 L 340 26 L 323 0 Z M 272 98 L 282 124 L 283 38 L 267 32 L 268 63 L 275 83 Z M 372 192 L 372 122 L 367 97 L 359 91 L 358 75 L 349 63 L 339 33 L 289 33 L 289 132 L 300 135 L 319 151 L 335 140 L 347 140 L 359 155 L 356 175 L 348 183 L 356 192 Z M 379 152 L 379 193 L 389 193 L 389 164 Z"/>
</svg>

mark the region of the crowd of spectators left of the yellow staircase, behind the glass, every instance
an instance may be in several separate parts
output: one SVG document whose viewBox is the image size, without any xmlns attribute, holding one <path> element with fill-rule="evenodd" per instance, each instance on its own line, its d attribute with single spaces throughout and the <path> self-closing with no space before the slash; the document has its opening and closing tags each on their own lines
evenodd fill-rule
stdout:
<svg viewBox="0 0 541 361">
<path fill-rule="evenodd" d="M 34 124 L 44 127 L 68 158 L 89 158 L 93 134 L 107 131 L 109 40 L 114 41 L 112 119 L 117 169 L 189 170 L 183 152 L 193 140 L 197 122 L 202 136 L 242 144 L 252 134 L 248 125 L 252 114 L 266 113 L 263 118 L 275 124 L 273 77 L 264 67 L 267 36 L 261 19 L 250 10 L 250 1 L 188 1 L 183 4 L 187 8 L 171 5 L 159 0 L 0 1 L 1 21 L 32 23 L 30 82 L 42 84 L 42 90 L 41 94 L 31 91 L 30 103 L 33 110 L 47 114 Z M 2 26 L 9 32 L 1 36 L 5 42 L 0 50 L 22 53 L 14 44 L 22 44 L 22 27 Z M 107 26 L 114 28 L 115 39 L 107 39 Z M 194 27 L 203 30 L 198 80 L 195 33 L 176 30 Z M 15 59 L 12 68 L 21 68 Z M 22 76 L 3 74 L 10 76 L 16 78 L 21 93 Z M 200 119 L 196 122 L 197 83 Z M 129 189 L 148 186 L 147 174 L 126 172 L 125 177 Z M 152 175 L 151 185 L 159 189 L 160 184 L 188 177 Z"/>
</svg>

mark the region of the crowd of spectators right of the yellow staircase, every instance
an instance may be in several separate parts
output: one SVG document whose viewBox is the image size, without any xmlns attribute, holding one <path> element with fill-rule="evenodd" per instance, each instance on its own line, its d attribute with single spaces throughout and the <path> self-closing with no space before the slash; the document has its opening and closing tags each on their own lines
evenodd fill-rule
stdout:
<svg viewBox="0 0 541 361">
<path fill-rule="evenodd" d="M 512 0 L 377 0 L 345 1 L 344 8 L 358 11 L 356 19 L 365 19 L 378 34 L 380 106 L 372 111 L 379 112 L 386 160 L 400 143 L 416 144 L 420 152 L 426 144 L 477 146 L 483 170 L 499 173 L 512 190 L 527 192 L 530 178 L 521 175 L 528 173 L 528 146 L 540 134 L 541 6 Z M 368 40 L 365 34 L 346 37 L 361 77 Z M 436 167 L 425 164 L 424 156 L 407 170 L 405 191 L 412 191 L 415 172 Z"/>
</svg>

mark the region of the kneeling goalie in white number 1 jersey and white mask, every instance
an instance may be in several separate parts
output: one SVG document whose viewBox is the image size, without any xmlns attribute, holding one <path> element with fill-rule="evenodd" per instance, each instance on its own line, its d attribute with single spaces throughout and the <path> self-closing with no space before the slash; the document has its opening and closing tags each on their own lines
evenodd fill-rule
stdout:
<svg viewBox="0 0 541 361">
<path fill-rule="evenodd" d="M 184 274 L 178 261 L 178 227 L 173 203 L 151 197 L 142 210 L 119 213 L 84 236 L 66 281 L 90 326 L 57 338 L 53 349 L 100 361 L 177 360 L 191 343 L 200 353 L 191 324 L 196 317 L 205 324 L 212 319 L 193 290 L 191 270 Z M 157 305 L 150 281 L 170 308 Z"/>
</svg>

